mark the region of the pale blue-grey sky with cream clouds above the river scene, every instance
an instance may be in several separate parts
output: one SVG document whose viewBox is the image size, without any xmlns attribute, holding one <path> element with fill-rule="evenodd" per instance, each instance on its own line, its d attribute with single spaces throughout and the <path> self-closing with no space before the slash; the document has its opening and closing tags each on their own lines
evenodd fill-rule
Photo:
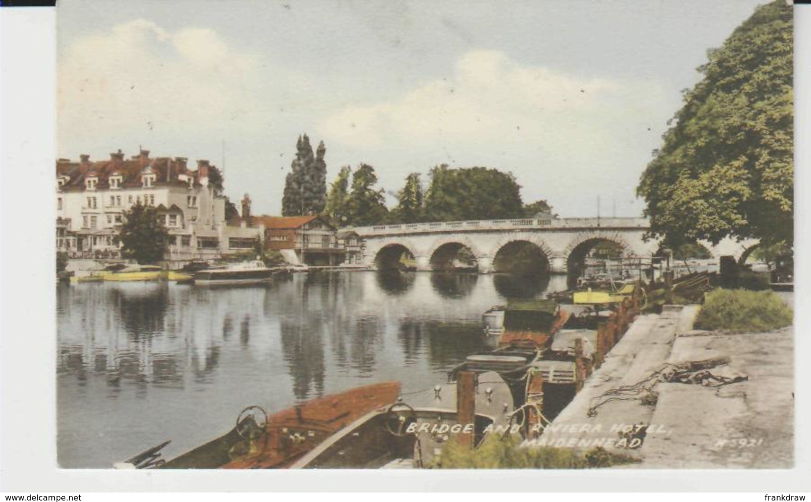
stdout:
<svg viewBox="0 0 811 502">
<path fill-rule="evenodd" d="M 58 157 L 208 159 L 279 214 L 307 134 L 328 182 L 484 166 L 561 217 L 641 216 L 682 91 L 761 3 L 60 0 Z"/>
</svg>

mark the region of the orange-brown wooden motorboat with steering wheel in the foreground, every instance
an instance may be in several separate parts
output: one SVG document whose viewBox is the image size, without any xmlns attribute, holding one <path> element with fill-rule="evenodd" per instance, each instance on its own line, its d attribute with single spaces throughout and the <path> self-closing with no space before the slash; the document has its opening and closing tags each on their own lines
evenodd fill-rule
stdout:
<svg viewBox="0 0 811 502">
<path fill-rule="evenodd" d="M 170 461 L 165 444 L 149 448 L 117 467 L 160 469 L 284 469 L 372 410 L 397 401 L 399 382 L 367 385 L 295 405 L 270 417 L 250 406 L 227 434 Z"/>
</svg>

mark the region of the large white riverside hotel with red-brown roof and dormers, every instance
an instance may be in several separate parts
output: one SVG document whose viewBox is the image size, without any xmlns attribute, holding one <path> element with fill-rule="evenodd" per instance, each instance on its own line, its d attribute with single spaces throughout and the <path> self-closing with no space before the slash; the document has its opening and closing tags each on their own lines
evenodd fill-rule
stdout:
<svg viewBox="0 0 811 502">
<path fill-rule="evenodd" d="M 157 208 L 169 230 L 168 260 L 215 258 L 249 251 L 260 241 L 257 229 L 225 224 L 221 181 L 206 160 L 197 169 L 186 157 L 149 157 L 148 150 L 125 160 L 121 150 L 109 160 L 59 159 L 57 249 L 74 257 L 118 257 L 122 213 L 141 203 Z"/>
</svg>

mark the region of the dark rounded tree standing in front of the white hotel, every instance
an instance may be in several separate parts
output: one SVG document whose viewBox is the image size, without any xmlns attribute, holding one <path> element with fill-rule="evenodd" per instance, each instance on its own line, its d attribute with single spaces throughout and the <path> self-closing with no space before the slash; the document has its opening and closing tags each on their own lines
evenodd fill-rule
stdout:
<svg viewBox="0 0 811 502">
<path fill-rule="evenodd" d="M 121 255 L 139 264 L 153 264 L 163 260 L 169 243 L 169 232 L 158 217 L 157 209 L 135 204 L 122 213 Z"/>
</svg>

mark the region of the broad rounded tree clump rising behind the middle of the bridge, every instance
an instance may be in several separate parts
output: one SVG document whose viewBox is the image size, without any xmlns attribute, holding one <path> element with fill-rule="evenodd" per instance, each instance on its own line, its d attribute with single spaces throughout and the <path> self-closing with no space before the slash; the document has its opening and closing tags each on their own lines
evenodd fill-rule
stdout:
<svg viewBox="0 0 811 502">
<path fill-rule="evenodd" d="M 498 169 L 473 167 L 431 169 L 431 185 L 425 201 L 428 221 L 519 218 L 524 214 L 521 187 L 513 174 Z"/>
</svg>

